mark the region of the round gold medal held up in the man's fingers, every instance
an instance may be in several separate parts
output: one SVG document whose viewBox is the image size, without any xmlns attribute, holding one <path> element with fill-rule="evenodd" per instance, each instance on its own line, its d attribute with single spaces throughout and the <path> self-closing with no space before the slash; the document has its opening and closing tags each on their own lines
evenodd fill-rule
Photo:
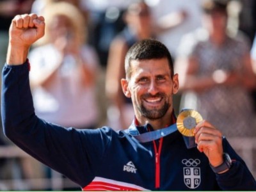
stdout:
<svg viewBox="0 0 256 192">
<path fill-rule="evenodd" d="M 200 113 L 193 109 L 184 109 L 177 118 L 177 129 L 184 136 L 195 136 L 196 124 L 203 120 Z"/>
</svg>

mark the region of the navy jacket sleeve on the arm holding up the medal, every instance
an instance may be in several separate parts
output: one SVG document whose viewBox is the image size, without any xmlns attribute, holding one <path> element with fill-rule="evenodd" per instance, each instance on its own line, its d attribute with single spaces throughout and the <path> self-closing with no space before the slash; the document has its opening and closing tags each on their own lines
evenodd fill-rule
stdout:
<svg viewBox="0 0 256 192">
<path fill-rule="evenodd" d="M 216 173 L 216 180 L 220 188 L 225 191 L 255 191 L 256 182 L 252 173 L 225 138 L 223 139 L 223 148 L 224 152 L 231 157 L 232 166 L 225 173 Z"/>
</svg>

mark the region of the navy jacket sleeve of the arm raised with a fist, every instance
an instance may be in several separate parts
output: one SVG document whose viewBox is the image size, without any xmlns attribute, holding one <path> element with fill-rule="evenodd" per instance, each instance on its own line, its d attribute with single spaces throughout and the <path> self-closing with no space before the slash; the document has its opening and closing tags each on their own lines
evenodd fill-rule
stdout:
<svg viewBox="0 0 256 192">
<path fill-rule="evenodd" d="M 4 65 L 1 113 L 4 134 L 25 152 L 79 186 L 94 177 L 111 129 L 65 129 L 38 118 L 29 88 L 29 63 Z"/>
</svg>

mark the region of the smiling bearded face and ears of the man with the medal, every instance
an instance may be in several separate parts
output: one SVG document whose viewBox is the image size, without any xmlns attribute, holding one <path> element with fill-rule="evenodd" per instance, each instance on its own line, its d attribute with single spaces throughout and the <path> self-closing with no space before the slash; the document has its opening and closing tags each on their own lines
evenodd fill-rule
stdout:
<svg viewBox="0 0 256 192">
<path fill-rule="evenodd" d="M 131 61 L 131 78 L 122 81 L 124 93 L 131 97 L 137 118 L 158 120 L 172 113 L 172 95 L 177 93 L 177 74 L 171 77 L 166 58 Z"/>
</svg>

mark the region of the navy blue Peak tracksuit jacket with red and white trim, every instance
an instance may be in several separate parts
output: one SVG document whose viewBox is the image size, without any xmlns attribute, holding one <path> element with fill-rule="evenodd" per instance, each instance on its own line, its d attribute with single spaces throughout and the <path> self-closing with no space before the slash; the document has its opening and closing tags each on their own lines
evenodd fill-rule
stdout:
<svg viewBox="0 0 256 192">
<path fill-rule="evenodd" d="M 224 152 L 233 163 L 228 172 L 216 174 L 204 153 L 186 148 L 178 131 L 140 143 L 129 130 L 66 129 L 45 122 L 33 108 L 28 62 L 4 66 L 1 111 L 4 134 L 13 143 L 84 191 L 256 190 L 255 179 L 225 138 Z"/>
</svg>

